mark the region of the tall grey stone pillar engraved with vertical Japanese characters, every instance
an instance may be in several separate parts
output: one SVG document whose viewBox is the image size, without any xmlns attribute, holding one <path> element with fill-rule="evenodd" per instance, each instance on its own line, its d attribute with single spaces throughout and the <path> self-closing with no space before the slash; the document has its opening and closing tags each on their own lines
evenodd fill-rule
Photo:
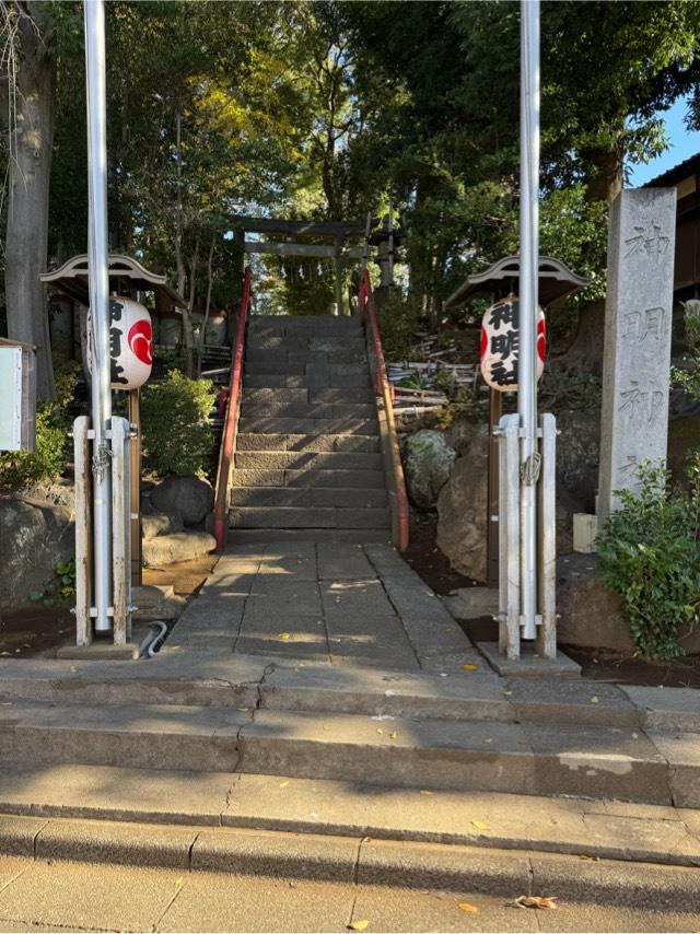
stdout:
<svg viewBox="0 0 700 934">
<path fill-rule="evenodd" d="M 643 460 L 666 458 L 676 189 L 615 199 L 608 235 L 598 528 L 637 487 Z"/>
</svg>

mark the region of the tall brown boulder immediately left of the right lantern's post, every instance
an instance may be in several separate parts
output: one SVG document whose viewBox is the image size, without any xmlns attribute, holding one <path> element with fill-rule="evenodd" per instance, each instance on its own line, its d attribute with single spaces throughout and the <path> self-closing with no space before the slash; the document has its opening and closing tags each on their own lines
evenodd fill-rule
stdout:
<svg viewBox="0 0 700 934">
<path fill-rule="evenodd" d="M 455 571 L 486 581 L 489 440 L 476 437 L 438 498 L 438 547 Z"/>
</svg>

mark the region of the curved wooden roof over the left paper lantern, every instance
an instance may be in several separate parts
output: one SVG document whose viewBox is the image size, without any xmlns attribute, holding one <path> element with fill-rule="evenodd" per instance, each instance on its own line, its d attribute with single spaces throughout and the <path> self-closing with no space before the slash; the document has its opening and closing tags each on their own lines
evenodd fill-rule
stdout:
<svg viewBox="0 0 700 934">
<path fill-rule="evenodd" d="M 117 294 L 153 292 L 156 307 L 187 307 L 185 299 L 168 284 L 165 276 L 151 272 L 141 266 L 138 259 L 120 253 L 110 253 L 108 264 L 109 291 L 117 292 Z M 88 254 L 73 256 L 58 269 L 43 272 L 39 279 L 74 302 L 80 302 L 82 305 L 90 304 Z"/>
</svg>

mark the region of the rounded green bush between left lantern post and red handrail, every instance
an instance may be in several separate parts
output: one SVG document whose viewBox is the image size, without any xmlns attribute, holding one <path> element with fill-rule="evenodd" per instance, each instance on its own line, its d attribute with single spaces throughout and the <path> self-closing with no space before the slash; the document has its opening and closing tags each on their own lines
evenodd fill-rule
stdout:
<svg viewBox="0 0 700 934">
<path fill-rule="evenodd" d="M 210 380 L 188 380 L 171 370 L 163 383 L 141 396 L 143 463 L 164 477 L 190 477 L 210 466 L 213 435 L 209 413 L 215 393 Z"/>
</svg>

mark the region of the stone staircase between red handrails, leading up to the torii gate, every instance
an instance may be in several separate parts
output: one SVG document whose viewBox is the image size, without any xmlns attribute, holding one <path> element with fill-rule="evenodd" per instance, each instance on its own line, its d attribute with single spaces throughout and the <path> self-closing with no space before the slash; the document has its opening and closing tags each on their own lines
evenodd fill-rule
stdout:
<svg viewBox="0 0 700 934">
<path fill-rule="evenodd" d="M 386 478 L 360 318 L 250 319 L 230 526 L 387 537 Z"/>
</svg>

